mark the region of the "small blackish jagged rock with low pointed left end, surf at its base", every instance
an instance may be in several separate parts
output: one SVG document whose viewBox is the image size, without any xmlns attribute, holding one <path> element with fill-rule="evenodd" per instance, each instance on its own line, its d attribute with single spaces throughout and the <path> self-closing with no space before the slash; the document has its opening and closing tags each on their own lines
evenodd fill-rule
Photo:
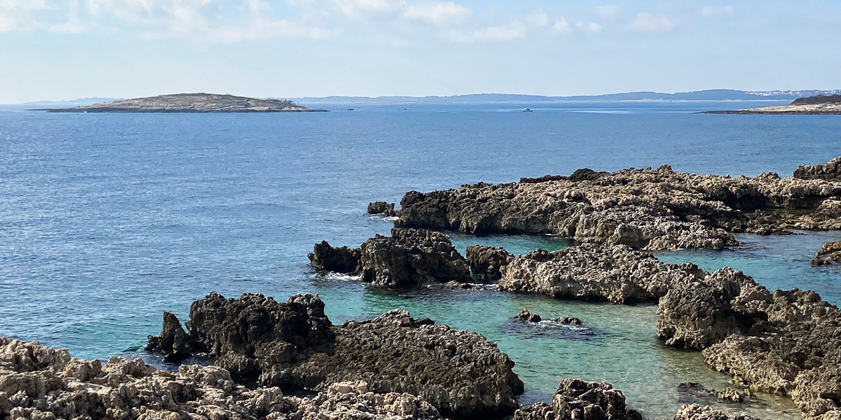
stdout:
<svg viewBox="0 0 841 420">
<path fill-rule="evenodd" d="M 377 286 L 473 281 L 467 260 L 452 246 L 450 237 L 424 229 L 394 228 L 390 237 L 378 234 L 358 249 L 332 248 L 322 242 L 315 245 L 309 260 L 325 270 L 362 275 L 362 281 Z"/>
</svg>

